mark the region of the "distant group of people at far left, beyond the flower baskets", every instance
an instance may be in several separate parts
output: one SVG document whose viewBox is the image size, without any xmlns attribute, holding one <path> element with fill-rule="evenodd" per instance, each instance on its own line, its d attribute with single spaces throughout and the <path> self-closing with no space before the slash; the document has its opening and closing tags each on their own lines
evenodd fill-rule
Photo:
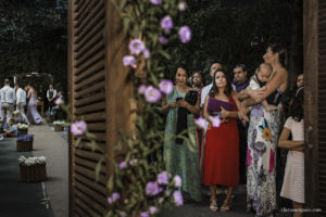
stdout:
<svg viewBox="0 0 326 217">
<path fill-rule="evenodd" d="M 18 114 L 18 118 L 27 125 L 40 125 L 42 117 L 37 110 L 37 102 L 46 102 L 46 111 L 48 115 L 57 115 L 58 118 L 63 117 L 63 113 L 60 111 L 60 106 L 54 104 L 54 101 L 60 99 L 64 101 L 61 91 L 53 89 L 53 85 L 49 85 L 48 90 L 43 90 L 42 86 L 38 91 L 29 84 L 24 89 L 18 82 L 11 87 L 9 79 L 4 80 L 4 86 L 0 89 L 0 120 L 1 127 L 5 133 L 10 130 L 12 123 L 14 122 L 14 113 Z"/>
</svg>

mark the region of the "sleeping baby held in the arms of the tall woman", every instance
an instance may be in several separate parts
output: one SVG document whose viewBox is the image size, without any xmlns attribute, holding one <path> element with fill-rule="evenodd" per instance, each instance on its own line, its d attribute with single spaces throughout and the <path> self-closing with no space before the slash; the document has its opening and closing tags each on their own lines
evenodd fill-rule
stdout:
<svg viewBox="0 0 326 217">
<path fill-rule="evenodd" d="M 250 88 L 251 90 L 256 90 L 259 88 L 264 87 L 267 84 L 267 81 L 272 78 L 271 76 L 273 76 L 272 71 L 273 69 L 269 64 L 267 63 L 260 64 L 260 67 L 255 71 L 255 74 L 251 77 L 249 87 L 247 89 Z M 244 100 L 249 98 L 249 95 L 246 93 L 246 91 L 241 91 L 238 98 L 239 100 Z M 264 106 L 265 111 L 267 112 L 277 110 L 277 106 L 269 105 L 266 100 L 264 100 L 261 104 Z M 247 116 L 247 114 L 250 112 L 250 110 L 251 107 L 247 107 L 246 110 L 247 113 L 242 114 L 242 118 L 247 122 L 249 122 L 249 117 Z"/>
</svg>

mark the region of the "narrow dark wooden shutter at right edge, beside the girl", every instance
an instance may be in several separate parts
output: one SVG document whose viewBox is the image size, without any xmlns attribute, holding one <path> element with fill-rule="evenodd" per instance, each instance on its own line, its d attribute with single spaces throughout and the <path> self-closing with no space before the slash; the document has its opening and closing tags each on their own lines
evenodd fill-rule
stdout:
<svg viewBox="0 0 326 217">
<path fill-rule="evenodd" d="M 303 5 L 305 216 L 326 216 L 326 0 Z"/>
</svg>

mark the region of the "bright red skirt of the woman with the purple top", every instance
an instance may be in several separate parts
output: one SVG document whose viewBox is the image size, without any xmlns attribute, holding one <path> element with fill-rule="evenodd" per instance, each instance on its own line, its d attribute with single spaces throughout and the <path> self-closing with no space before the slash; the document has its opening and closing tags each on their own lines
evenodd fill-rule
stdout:
<svg viewBox="0 0 326 217">
<path fill-rule="evenodd" d="M 233 98 L 228 103 L 237 105 Z M 236 187 L 239 183 L 239 131 L 237 119 L 231 118 L 220 127 L 209 126 L 204 157 L 204 180 L 206 186 Z"/>
</svg>

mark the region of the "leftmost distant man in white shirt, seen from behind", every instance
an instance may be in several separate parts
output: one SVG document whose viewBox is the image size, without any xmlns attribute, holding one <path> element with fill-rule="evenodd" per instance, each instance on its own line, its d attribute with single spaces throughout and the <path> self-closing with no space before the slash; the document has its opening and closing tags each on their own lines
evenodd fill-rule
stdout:
<svg viewBox="0 0 326 217">
<path fill-rule="evenodd" d="M 3 120 L 4 117 L 7 117 L 7 123 L 9 123 L 9 120 L 12 117 L 12 113 L 14 111 L 14 104 L 16 100 L 15 90 L 12 87 L 10 87 L 9 79 L 4 80 L 4 86 L 0 90 L 0 100 L 1 100 L 1 108 L 2 108 L 1 120 Z"/>
</svg>

